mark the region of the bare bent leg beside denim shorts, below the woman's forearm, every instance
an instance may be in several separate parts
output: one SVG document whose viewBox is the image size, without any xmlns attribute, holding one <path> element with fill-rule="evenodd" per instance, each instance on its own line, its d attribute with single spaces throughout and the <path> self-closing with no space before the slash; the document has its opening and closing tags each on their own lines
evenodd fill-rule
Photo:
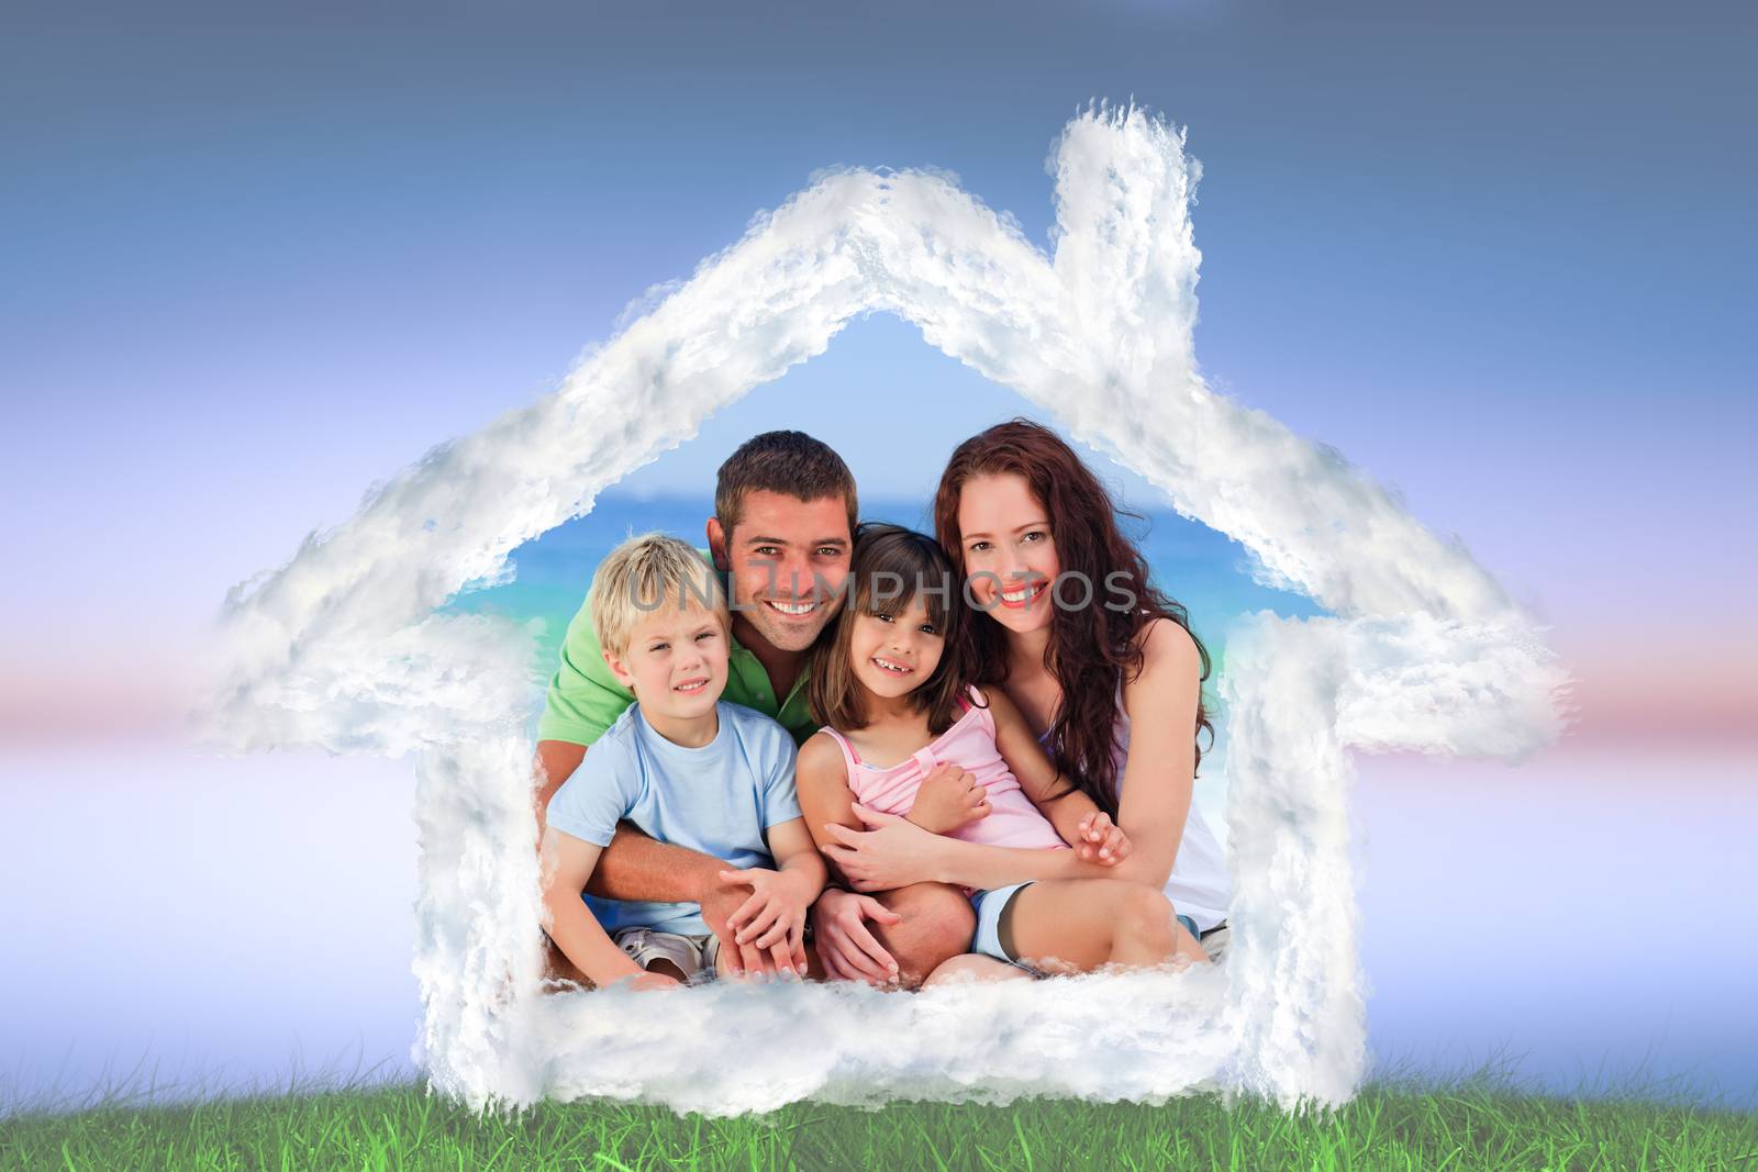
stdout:
<svg viewBox="0 0 1758 1172">
<path fill-rule="evenodd" d="M 1014 952 L 1046 972 L 1204 959 L 1162 893 L 1118 879 L 1058 879 L 1021 887 L 1007 908 L 1007 930 Z"/>
</svg>

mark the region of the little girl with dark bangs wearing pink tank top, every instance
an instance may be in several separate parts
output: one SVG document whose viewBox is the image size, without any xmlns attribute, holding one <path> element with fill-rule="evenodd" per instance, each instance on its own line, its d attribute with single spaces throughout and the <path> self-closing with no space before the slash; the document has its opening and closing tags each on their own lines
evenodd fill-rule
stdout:
<svg viewBox="0 0 1758 1172">
<path fill-rule="evenodd" d="M 796 766 L 800 807 L 826 857 L 837 865 L 849 854 L 839 833 L 861 826 L 860 801 L 877 812 L 868 817 L 890 814 L 928 835 L 1055 856 L 1055 877 L 1034 884 L 1028 908 L 1014 907 L 1018 882 L 967 887 L 976 954 L 1028 972 L 1202 959 L 1159 889 L 1108 875 L 1127 859 L 1129 840 L 1062 778 L 1018 708 L 999 689 L 965 682 L 953 648 L 967 619 L 933 539 L 863 525 L 849 590 L 810 666 L 812 712 L 826 727 L 800 747 Z M 826 970 L 854 975 L 833 961 Z M 970 970 L 958 958 L 930 982 Z"/>
</svg>

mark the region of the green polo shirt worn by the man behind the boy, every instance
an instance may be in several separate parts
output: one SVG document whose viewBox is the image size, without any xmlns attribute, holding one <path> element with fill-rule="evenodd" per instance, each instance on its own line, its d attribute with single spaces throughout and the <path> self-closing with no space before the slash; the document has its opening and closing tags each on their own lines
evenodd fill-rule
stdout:
<svg viewBox="0 0 1758 1172">
<path fill-rule="evenodd" d="M 708 550 L 696 550 L 701 559 L 714 564 Z M 721 575 L 726 585 L 726 575 Z M 770 687 L 768 673 L 758 657 L 738 640 L 728 638 L 726 691 L 721 699 L 754 708 L 766 717 L 781 720 L 795 743 L 817 731 L 817 720 L 805 699 L 805 671 L 793 682 L 793 691 L 777 705 L 775 689 Z M 617 684 L 598 650 L 598 633 L 592 631 L 592 590 L 587 589 L 580 611 L 568 624 L 568 636 L 561 643 L 561 666 L 550 678 L 550 691 L 543 701 L 543 719 L 538 720 L 538 740 L 570 742 L 573 745 L 591 745 L 605 734 L 622 710 L 635 703 L 635 692 Z"/>
</svg>

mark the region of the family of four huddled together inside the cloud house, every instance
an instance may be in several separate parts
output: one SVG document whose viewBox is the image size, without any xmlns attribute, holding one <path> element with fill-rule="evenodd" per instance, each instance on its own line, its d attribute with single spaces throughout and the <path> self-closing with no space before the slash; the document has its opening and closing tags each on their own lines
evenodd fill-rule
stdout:
<svg viewBox="0 0 1758 1172">
<path fill-rule="evenodd" d="M 556 988 L 1220 959 L 1210 659 L 1104 485 L 1016 418 L 953 452 L 933 536 L 856 518 L 835 452 L 766 432 L 707 550 L 599 564 L 538 726 Z"/>
</svg>

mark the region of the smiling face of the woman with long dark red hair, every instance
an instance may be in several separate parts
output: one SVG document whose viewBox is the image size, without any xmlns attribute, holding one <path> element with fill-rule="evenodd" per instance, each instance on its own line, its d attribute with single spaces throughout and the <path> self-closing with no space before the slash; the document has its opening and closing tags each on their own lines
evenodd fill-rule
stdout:
<svg viewBox="0 0 1758 1172">
<path fill-rule="evenodd" d="M 970 601 L 1018 634 L 1050 626 L 1062 573 L 1050 513 L 1025 476 L 972 476 L 958 492 L 958 532 Z"/>
</svg>

